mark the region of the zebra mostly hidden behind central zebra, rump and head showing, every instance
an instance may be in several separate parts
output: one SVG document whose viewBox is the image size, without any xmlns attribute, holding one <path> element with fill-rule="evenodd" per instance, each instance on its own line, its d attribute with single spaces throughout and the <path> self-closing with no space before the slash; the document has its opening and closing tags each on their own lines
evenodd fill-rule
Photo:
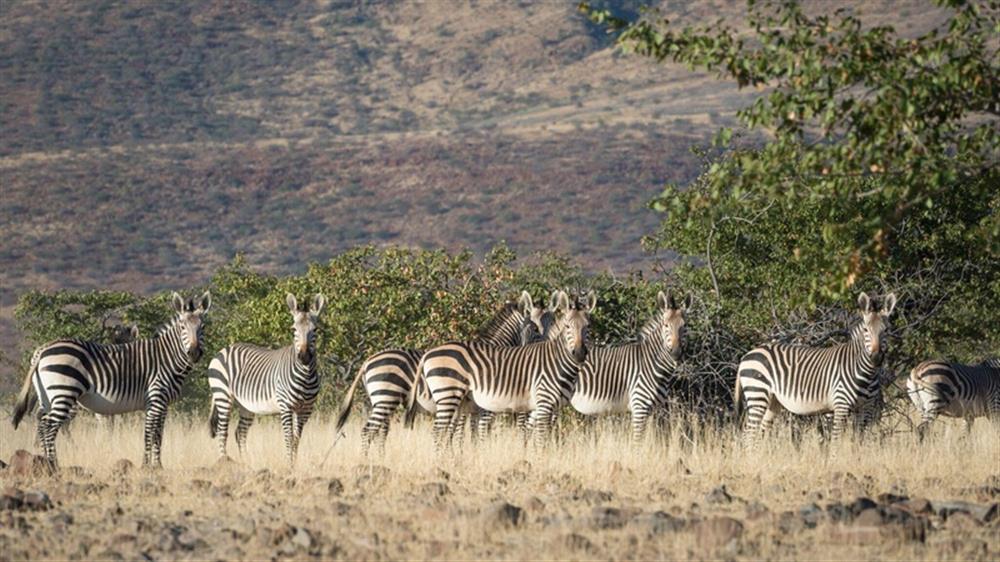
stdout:
<svg viewBox="0 0 1000 562">
<path fill-rule="evenodd" d="M 543 332 L 548 332 L 553 322 L 550 310 L 534 304 L 527 291 L 521 293 L 517 304 L 508 303 L 480 330 L 483 341 L 496 345 L 522 345 L 537 341 Z M 417 365 L 423 350 L 417 349 L 387 349 L 369 357 L 358 369 L 354 381 L 347 390 L 345 401 L 341 405 L 337 417 L 337 432 L 343 429 L 351 413 L 354 392 L 360 381 L 364 380 L 365 392 L 371 403 L 368 421 L 361 430 L 362 447 L 365 454 L 371 443 L 377 441 L 384 447 L 389 433 L 389 420 L 396 409 L 410 393 L 410 388 L 416 378 Z M 418 400 L 422 407 L 434 412 L 434 402 L 421 381 L 418 389 Z M 420 398 L 422 396 L 422 398 Z M 480 416 L 480 427 L 488 427 L 492 416 Z"/>
</svg>

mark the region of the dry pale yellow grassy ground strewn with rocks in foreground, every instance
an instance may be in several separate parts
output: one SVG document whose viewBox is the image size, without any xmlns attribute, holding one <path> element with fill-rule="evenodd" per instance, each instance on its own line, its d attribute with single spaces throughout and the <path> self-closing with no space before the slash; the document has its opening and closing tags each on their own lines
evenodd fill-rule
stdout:
<svg viewBox="0 0 1000 562">
<path fill-rule="evenodd" d="M 318 419 L 289 469 L 275 420 L 251 430 L 243 459 L 220 464 L 206 422 L 174 418 L 164 470 L 122 471 L 120 459 L 141 459 L 139 421 L 74 422 L 60 436 L 59 477 L 0 472 L 5 487 L 54 502 L 0 511 L 0 558 L 1000 556 L 996 509 L 977 511 L 1000 494 L 1000 442 L 985 422 L 967 436 L 939 424 L 920 446 L 900 433 L 827 448 L 808 433 L 793 447 L 783 428 L 746 452 L 728 431 L 692 436 L 679 424 L 632 445 L 624 420 L 610 419 L 567 429 L 542 451 L 500 428 L 444 456 L 424 422 L 394 429 L 385 456 L 369 462 L 358 419 L 332 449 L 332 423 Z M 3 424 L 0 456 L 32 440 L 30 424 Z M 859 497 L 878 506 L 864 511 L 873 504 Z M 975 504 L 972 514 L 944 503 L 956 500 Z"/>
</svg>

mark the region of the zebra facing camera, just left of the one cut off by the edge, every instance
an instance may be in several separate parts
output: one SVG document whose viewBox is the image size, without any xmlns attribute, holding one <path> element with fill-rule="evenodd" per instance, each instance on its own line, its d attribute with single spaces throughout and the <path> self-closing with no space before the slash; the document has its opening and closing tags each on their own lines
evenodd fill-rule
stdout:
<svg viewBox="0 0 1000 562">
<path fill-rule="evenodd" d="M 886 296 L 880 309 L 874 298 L 861 293 L 858 305 L 861 322 L 851 330 L 847 343 L 831 347 L 773 343 L 743 356 L 733 397 L 737 419 L 746 406 L 748 439 L 766 431 L 783 406 L 796 415 L 833 412 L 832 438 L 836 440 L 848 414 L 881 392 L 878 369 L 896 295 Z"/>
</svg>

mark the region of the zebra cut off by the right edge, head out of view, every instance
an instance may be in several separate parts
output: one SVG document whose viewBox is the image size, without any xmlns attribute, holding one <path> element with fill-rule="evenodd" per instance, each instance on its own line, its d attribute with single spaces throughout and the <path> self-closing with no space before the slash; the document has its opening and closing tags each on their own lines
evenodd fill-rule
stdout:
<svg viewBox="0 0 1000 562">
<path fill-rule="evenodd" d="M 917 434 L 921 440 L 940 414 L 965 418 L 969 430 L 980 416 L 1000 424 L 1000 358 L 978 365 L 924 361 L 910 371 L 906 390 L 920 412 Z"/>
</svg>

